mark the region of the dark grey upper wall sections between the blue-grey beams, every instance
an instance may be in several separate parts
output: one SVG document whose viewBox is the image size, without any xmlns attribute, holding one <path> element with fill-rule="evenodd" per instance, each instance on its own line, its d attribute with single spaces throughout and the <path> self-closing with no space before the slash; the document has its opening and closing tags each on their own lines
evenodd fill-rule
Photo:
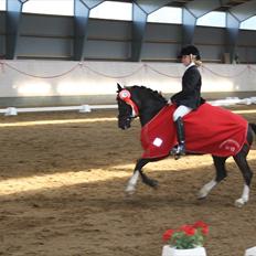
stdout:
<svg viewBox="0 0 256 256">
<path fill-rule="evenodd" d="M 6 14 L 0 12 L 0 55 L 6 54 Z M 72 60 L 74 18 L 23 13 L 17 42 L 17 58 Z M 89 19 L 85 60 L 128 61 L 131 55 L 132 23 Z M 196 26 L 194 43 L 204 62 L 223 63 L 226 31 Z M 237 53 L 241 63 L 256 63 L 256 31 L 241 30 Z M 147 23 L 141 61 L 177 62 L 182 25 Z"/>
</svg>

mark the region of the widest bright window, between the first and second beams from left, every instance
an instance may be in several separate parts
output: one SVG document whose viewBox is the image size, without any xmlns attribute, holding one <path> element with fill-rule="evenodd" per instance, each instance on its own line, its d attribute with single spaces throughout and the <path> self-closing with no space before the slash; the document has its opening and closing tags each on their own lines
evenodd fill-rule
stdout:
<svg viewBox="0 0 256 256">
<path fill-rule="evenodd" d="M 73 0 L 29 0 L 23 4 L 22 12 L 74 15 Z"/>
</svg>

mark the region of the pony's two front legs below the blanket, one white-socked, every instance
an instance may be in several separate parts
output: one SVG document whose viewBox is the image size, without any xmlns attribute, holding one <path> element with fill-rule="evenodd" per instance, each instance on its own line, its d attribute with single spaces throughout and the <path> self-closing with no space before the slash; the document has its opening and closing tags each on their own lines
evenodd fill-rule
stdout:
<svg viewBox="0 0 256 256">
<path fill-rule="evenodd" d="M 138 178 L 139 175 L 141 177 L 141 180 L 145 184 L 150 185 L 152 188 L 156 188 L 158 185 L 158 182 L 156 180 L 152 180 L 150 178 L 148 178 L 143 172 L 142 172 L 142 168 L 148 163 L 151 162 L 151 159 L 139 159 L 136 163 L 135 170 L 134 170 L 134 174 L 132 177 L 129 179 L 128 184 L 126 186 L 126 192 L 129 194 L 132 194 L 136 191 L 136 184 L 138 182 Z"/>
</svg>

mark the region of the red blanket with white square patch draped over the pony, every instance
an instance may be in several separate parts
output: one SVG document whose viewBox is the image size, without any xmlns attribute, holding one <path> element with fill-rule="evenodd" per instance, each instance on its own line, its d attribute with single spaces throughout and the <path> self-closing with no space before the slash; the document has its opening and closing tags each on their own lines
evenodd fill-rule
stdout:
<svg viewBox="0 0 256 256">
<path fill-rule="evenodd" d="M 172 114 L 175 106 L 164 107 L 141 129 L 142 158 L 167 157 L 177 145 Z M 247 121 L 230 110 L 203 104 L 183 117 L 186 150 L 218 157 L 235 156 L 246 142 Z"/>
</svg>

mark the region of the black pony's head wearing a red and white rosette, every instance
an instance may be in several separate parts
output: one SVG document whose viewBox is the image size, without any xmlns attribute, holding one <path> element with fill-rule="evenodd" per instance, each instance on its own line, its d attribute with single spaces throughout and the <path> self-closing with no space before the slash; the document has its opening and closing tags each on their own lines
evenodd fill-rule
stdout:
<svg viewBox="0 0 256 256">
<path fill-rule="evenodd" d="M 137 104 L 131 98 L 130 88 L 122 88 L 117 84 L 117 104 L 118 104 L 118 127 L 121 129 L 130 128 L 132 118 L 139 115 Z"/>
</svg>

